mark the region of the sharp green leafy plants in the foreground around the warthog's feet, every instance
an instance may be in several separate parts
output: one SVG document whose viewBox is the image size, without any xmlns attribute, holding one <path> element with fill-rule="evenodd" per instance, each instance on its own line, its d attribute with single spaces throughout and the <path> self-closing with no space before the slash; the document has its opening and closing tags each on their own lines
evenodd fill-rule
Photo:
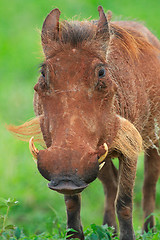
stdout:
<svg viewBox="0 0 160 240">
<path fill-rule="evenodd" d="M 16 206 L 18 202 L 15 199 L 0 200 L 0 209 L 5 209 L 6 213 L 0 215 L 0 239 L 3 240 L 17 240 L 17 239 L 55 239 L 55 240 L 65 240 L 68 231 L 66 230 L 65 222 L 59 215 L 52 209 L 54 213 L 54 218 L 48 219 L 46 222 L 46 230 L 40 234 L 30 234 L 26 236 L 22 229 L 14 226 L 13 224 L 8 224 L 8 215 L 12 207 Z M 141 234 L 141 231 L 136 231 L 136 240 L 159 240 L 160 238 L 160 222 L 159 216 L 157 218 L 157 223 L 155 226 L 156 231 L 150 229 L 148 233 Z M 70 234 L 72 236 L 72 234 Z M 91 224 L 88 228 L 84 229 L 85 240 L 118 240 L 119 237 L 114 235 L 114 228 L 108 227 L 107 225 L 98 226 L 96 224 Z"/>
</svg>

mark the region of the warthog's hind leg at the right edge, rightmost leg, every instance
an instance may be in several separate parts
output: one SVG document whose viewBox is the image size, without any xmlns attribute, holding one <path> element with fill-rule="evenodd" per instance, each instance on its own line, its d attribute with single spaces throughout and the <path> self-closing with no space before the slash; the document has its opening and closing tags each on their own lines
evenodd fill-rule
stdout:
<svg viewBox="0 0 160 240">
<path fill-rule="evenodd" d="M 156 183 L 160 173 L 160 156 L 156 149 L 149 148 L 145 153 L 144 185 L 143 185 L 143 211 L 144 221 L 154 212 Z M 154 226 L 154 217 L 150 216 L 143 225 L 143 231 Z"/>
</svg>

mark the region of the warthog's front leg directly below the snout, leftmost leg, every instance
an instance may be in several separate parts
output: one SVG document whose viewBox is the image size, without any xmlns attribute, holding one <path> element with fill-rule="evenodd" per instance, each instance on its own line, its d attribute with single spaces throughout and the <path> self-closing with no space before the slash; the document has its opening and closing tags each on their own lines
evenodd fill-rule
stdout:
<svg viewBox="0 0 160 240">
<path fill-rule="evenodd" d="M 71 237 L 67 237 L 67 239 L 71 238 L 79 238 L 81 240 L 84 239 L 82 224 L 80 220 L 80 208 L 81 208 L 81 196 L 77 195 L 65 195 L 65 204 L 67 210 L 67 228 L 72 228 L 77 232 L 69 231 L 68 235 L 73 234 Z"/>
</svg>

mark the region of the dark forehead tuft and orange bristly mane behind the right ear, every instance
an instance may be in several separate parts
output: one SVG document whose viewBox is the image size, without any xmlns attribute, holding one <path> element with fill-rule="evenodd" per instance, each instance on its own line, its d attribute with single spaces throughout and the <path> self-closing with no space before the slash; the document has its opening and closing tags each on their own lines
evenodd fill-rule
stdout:
<svg viewBox="0 0 160 240">
<path fill-rule="evenodd" d="M 56 49 L 54 49 L 55 46 L 53 47 L 53 52 L 57 48 L 63 47 L 65 49 L 66 44 L 71 47 L 97 52 L 97 55 L 106 52 L 109 45 L 108 42 L 105 43 L 104 41 L 106 33 L 104 32 L 100 39 L 96 39 L 96 30 L 96 21 L 62 21 L 59 28 L 59 44 L 56 45 Z M 117 39 L 118 44 L 132 59 L 138 58 L 139 53 L 143 50 L 152 51 L 154 48 L 144 36 L 135 30 L 132 29 L 131 31 L 115 23 L 110 23 L 110 42 L 114 39 Z"/>
</svg>

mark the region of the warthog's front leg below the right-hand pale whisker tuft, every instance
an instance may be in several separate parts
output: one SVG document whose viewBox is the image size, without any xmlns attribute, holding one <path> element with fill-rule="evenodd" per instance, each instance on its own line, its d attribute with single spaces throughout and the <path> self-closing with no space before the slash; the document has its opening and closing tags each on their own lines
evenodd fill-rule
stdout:
<svg viewBox="0 0 160 240">
<path fill-rule="evenodd" d="M 119 183 L 116 210 L 119 220 L 120 240 L 134 240 L 132 224 L 132 198 L 136 175 L 137 157 L 127 159 L 119 157 Z"/>
</svg>

